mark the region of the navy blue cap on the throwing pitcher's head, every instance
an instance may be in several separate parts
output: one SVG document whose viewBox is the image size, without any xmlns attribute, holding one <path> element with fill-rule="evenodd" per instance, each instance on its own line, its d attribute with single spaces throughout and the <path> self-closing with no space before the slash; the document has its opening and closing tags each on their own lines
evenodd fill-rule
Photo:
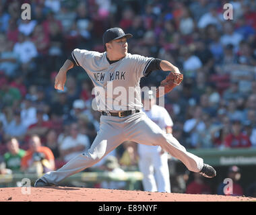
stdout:
<svg viewBox="0 0 256 215">
<path fill-rule="evenodd" d="M 122 28 L 110 28 L 106 30 L 103 34 L 103 44 L 104 48 L 106 50 L 106 43 L 110 42 L 111 40 L 117 40 L 123 37 L 131 38 L 133 35 L 132 34 L 125 34 Z"/>
</svg>

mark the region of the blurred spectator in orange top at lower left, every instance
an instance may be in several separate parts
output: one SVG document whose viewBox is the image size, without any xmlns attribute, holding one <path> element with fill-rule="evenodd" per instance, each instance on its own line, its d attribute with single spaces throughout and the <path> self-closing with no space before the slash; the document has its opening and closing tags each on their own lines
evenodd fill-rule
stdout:
<svg viewBox="0 0 256 215">
<path fill-rule="evenodd" d="M 46 173 L 55 170 L 55 157 L 50 148 L 42 146 L 40 137 L 33 135 L 29 140 L 30 148 L 22 157 L 22 171 L 27 173 Z"/>
</svg>

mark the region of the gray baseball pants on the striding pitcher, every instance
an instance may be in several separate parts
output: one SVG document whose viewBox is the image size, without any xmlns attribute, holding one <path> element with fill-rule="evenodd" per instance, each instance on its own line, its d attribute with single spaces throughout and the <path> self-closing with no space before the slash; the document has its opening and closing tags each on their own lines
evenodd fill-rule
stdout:
<svg viewBox="0 0 256 215">
<path fill-rule="evenodd" d="M 100 130 L 90 149 L 77 155 L 57 171 L 45 173 L 41 179 L 57 185 L 66 177 L 92 167 L 127 140 L 160 145 L 172 157 L 182 161 L 190 171 L 199 172 L 203 168 L 203 159 L 187 152 L 172 134 L 165 134 L 145 113 L 139 112 L 125 118 L 100 116 Z"/>
</svg>

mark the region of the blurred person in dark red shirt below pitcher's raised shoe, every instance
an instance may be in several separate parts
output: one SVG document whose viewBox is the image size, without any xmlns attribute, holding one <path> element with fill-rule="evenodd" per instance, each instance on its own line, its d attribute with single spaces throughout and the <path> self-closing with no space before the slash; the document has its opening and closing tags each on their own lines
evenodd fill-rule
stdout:
<svg viewBox="0 0 256 215">
<path fill-rule="evenodd" d="M 186 193 L 189 194 L 211 194 L 211 187 L 204 182 L 203 176 L 193 173 L 194 180 L 187 185 Z"/>
</svg>

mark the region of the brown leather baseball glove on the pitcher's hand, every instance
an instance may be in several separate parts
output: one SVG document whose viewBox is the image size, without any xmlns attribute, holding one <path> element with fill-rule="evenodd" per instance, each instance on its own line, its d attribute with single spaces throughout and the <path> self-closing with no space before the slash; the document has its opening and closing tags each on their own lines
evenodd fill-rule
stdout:
<svg viewBox="0 0 256 215">
<path fill-rule="evenodd" d="M 156 97 L 161 97 L 166 93 L 172 91 L 172 89 L 181 84 L 183 81 L 183 74 L 181 73 L 170 73 L 166 79 L 161 81 L 160 86 L 156 89 Z M 159 88 L 164 87 L 164 92 L 160 92 Z"/>
</svg>

